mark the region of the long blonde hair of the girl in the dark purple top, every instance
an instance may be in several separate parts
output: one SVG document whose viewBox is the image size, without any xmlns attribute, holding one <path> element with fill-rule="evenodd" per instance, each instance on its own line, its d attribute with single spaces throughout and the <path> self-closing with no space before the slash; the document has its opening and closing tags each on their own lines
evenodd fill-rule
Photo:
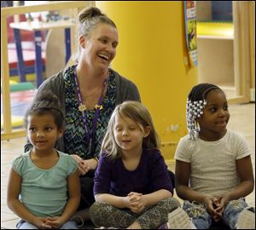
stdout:
<svg viewBox="0 0 256 230">
<path fill-rule="evenodd" d="M 150 127 L 150 132 L 147 137 L 143 139 L 143 148 L 145 149 L 159 149 L 160 138 L 154 129 L 152 118 L 145 106 L 137 101 L 125 101 L 119 106 L 116 106 L 112 116 L 108 122 L 107 132 L 102 141 L 101 152 L 104 152 L 110 158 L 121 157 L 121 149 L 116 143 L 113 135 L 115 118 L 119 116 L 121 118 L 131 118 L 137 125 L 141 124 L 143 128 Z"/>
</svg>

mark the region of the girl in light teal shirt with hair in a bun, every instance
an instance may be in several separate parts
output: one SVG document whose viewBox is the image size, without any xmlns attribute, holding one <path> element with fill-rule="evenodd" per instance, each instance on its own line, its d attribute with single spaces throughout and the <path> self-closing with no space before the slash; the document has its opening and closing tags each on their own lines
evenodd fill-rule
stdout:
<svg viewBox="0 0 256 230">
<path fill-rule="evenodd" d="M 64 119 L 55 95 L 45 91 L 26 112 L 25 124 L 32 150 L 15 158 L 8 183 L 7 203 L 21 220 L 19 229 L 77 229 L 69 221 L 79 206 L 78 165 L 55 141 Z"/>
</svg>

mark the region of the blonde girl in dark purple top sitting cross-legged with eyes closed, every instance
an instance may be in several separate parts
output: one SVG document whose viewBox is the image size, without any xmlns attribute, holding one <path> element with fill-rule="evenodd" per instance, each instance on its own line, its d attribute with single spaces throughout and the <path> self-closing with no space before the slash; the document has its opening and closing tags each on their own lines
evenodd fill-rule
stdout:
<svg viewBox="0 0 256 230">
<path fill-rule="evenodd" d="M 157 228 L 180 204 L 148 110 L 139 102 L 117 106 L 102 142 L 91 221 L 97 226 Z"/>
</svg>

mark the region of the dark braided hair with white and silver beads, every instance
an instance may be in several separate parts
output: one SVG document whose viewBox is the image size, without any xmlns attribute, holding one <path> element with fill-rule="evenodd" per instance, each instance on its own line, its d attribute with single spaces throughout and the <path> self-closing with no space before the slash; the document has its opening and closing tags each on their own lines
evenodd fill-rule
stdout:
<svg viewBox="0 0 256 230">
<path fill-rule="evenodd" d="M 189 93 L 186 105 L 186 119 L 187 129 L 189 130 L 189 137 L 191 140 L 195 140 L 198 136 L 199 128 L 196 119 L 201 118 L 201 115 L 203 114 L 203 109 L 207 105 L 207 95 L 215 89 L 223 92 L 223 90 L 215 84 L 200 83 L 195 85 Z"/>
</svg>

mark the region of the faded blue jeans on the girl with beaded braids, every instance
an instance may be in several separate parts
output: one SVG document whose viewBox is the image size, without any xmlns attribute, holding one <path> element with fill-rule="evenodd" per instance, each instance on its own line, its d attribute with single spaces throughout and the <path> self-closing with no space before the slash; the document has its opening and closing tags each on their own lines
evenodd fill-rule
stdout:
<svg viewBox="0 0 256 230">
<path fill-rule="evenodd" d="M 223 221 L 231 229 L 236 228 L 236 221 L 238 215 L 242 210 L 247 208 L 248 205 L 245 202 L 245 198 L 239 198 L 231 200 L 224 208 Z M 192 222 L 198 229 L 209 229 L 212 226 L 212 216 L 207 213 L 204 205 L 194 202 L 184 201 L 183 210 L 185 210 L 189 217 L 192 218 Z"/>
</svg>

